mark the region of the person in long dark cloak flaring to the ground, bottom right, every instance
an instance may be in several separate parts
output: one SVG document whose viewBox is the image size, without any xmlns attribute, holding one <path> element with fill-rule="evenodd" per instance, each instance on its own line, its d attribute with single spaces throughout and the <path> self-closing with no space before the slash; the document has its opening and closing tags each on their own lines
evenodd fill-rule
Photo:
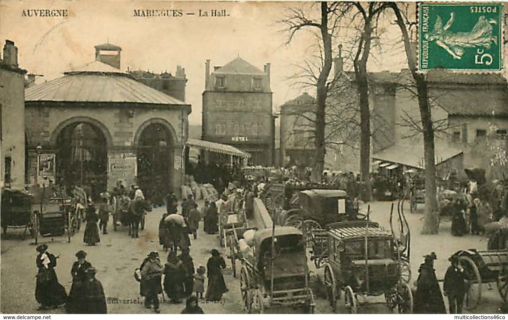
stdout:
<svg viewBox="0 0 508 320">
<path fill-rule="evenodd" d="M 414 313 L 445 314 L 441 289 L 434 271 L 435 252 L 424 256 L 425 261 L 420 265 L 415 293 Z"/>
</svg>

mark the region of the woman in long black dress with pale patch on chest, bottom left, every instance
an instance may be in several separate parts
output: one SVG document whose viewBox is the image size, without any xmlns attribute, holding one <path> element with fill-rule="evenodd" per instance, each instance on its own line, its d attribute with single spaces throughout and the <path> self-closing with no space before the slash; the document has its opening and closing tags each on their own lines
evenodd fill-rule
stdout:
<svg viewBox="0 0 508 320">
<path fill-rule="evenodd" d="M 37 283 L 35 287 L 35 298 L 41 304 L 39 310 L 53 309 L 64 304 L 67 300 L 65 288 L 58 283 L 56 272 L 56 257 L 47 252 L 48 246 L 41 244 L 37 247 L 36 265 Z"/>
</svg>

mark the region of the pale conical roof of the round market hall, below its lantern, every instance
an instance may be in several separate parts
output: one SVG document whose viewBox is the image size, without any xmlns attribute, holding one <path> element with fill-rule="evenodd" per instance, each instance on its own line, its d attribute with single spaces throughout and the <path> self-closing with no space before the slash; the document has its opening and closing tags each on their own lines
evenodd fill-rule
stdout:
<svg viewBox="0 0 508 320">
<path fill-rule="evenodd" d="M 153 89 L 106 63 L 93 61 L 25 90 L 26 102 L 114 102 L 156 105 L 189 104 Z"/>
</svg>

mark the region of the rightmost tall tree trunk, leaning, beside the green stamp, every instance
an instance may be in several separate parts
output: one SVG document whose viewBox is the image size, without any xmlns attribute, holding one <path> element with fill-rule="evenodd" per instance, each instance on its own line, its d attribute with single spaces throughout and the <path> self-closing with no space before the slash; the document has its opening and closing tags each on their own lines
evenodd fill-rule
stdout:
<svg viewBox="0 0 508 320">
<path fill-rule="evenodd" d="M 397 24 L 402 32 L 407 63 L 418 90 L 418 106 L 423 126 L 423 146 L 425 159 L 425 223 L 422 234 L 437 234 L 437 188 L 436 188 L 436 164 L 434 157 L 434 128 L 429 106 L 428 88 L 425 76 L 417 73 L 415 53 L 412 52 L 409 35 L 402 14 L 396 3 L 390 5 L 397 17 Z"/>
</svg>

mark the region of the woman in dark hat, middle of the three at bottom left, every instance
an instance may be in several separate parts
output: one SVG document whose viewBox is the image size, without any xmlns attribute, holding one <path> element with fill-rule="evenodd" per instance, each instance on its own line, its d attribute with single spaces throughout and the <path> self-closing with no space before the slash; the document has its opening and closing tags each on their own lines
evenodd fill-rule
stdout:
<svg viewBox="0 0 508 320">
<path fill-rule="evenodd" d="M 72 285 L 69 291 L 69 299 L 66 304 L 68 313 L 84 313 L 83 310 L 83 284 L 86 281 L 86 270 L 92 265 L 85 260 L 86 252 L 79 250 L 76 252 L 76 261 L 71 268 Z"/>
</svg>

